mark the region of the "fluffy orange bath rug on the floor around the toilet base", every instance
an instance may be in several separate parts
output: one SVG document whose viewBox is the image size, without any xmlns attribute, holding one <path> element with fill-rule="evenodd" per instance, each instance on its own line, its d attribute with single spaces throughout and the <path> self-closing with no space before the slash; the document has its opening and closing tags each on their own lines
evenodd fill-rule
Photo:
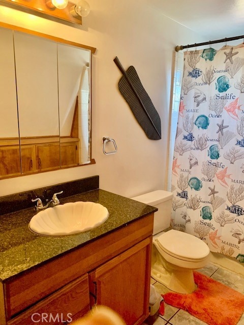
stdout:
<svg viewBox="0 0 244 325">
<path fill-rule="evenodd" d="M 194 272 L 194 279 L 194 293 L 170 292 L 163 295 L 164 301 L 209 325 L 236 325 L 244 312 L 244 295 L 199 272 Z"/>
</svg>

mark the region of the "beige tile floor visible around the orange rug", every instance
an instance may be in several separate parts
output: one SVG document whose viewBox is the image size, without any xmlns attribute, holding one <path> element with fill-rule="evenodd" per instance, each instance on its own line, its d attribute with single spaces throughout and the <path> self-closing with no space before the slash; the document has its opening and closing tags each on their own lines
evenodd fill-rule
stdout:
<svg viewBox="0 0 244 325">
<path fill-rule="evenodd" d="M 238 274 L 228 271 L 226 269 L 219 268 L 215 265 L 208 264 L 205 268 L 197 270 L 212 279 L 215 279 L 225 285 L 230 286 L 232 289 L 239 291 L 244 294 L 244 278 Z M 156 290 L 160 294 L 164 294 L 169 291 L 163 284 L 155 281 L 151 278 L 151 284 L 156 287 Z M 164 316 L 159 316 L 154 322 L 154 325 L 204 325 L 205 322 L 199 320 L 198 318 L 190 315 L 188 312 L 172 307 L 164 303 L 165 314 Z M 146 324 L 145 324 L 146 325 Z M 223 324 L 224 325 L 224 324 Z M 237 325 L 244 325 L 244 314 L 240 318 Z"/>
</svg>

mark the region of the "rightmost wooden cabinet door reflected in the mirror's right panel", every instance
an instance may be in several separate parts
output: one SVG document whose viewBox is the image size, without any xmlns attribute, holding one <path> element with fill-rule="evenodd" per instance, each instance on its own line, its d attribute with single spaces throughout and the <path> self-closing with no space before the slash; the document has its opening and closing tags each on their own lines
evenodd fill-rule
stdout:
<svg viewBox="0 0 244 325">
<path fill-rule="evenodd" d="M 79 142 L 61 143 L 61 167 L 79 164 Z"/>
</svg>

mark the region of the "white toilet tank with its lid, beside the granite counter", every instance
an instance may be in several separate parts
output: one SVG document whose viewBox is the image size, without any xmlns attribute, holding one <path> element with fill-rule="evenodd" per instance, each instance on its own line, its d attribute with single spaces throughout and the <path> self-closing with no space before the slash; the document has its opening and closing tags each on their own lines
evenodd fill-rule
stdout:
<svg viewBox="0 0 244 325">
<path fill-rule="evenodd" d="M 139 195 L 138 197 L 131 198 L 159 210 L 154 214 L 154 233 L 156 235 L 170 226 L 171 209 L 172 209 L 173 194 L 162 189 L 153 192 Z"/>
</svg>

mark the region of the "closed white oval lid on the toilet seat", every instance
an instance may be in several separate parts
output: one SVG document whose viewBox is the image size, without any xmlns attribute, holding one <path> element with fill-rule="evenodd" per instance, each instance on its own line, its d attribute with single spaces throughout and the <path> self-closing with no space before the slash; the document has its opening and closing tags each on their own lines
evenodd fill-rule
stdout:
<svg viewBox="0 0 244 325">
<path fill-rule="evenodd" d="M 209 248 L 201 239 L 177 230 L 169 230 L 157 238 L 161 248 L 171 255 L 201 259 L 209 254 Z"/>
</svg>

